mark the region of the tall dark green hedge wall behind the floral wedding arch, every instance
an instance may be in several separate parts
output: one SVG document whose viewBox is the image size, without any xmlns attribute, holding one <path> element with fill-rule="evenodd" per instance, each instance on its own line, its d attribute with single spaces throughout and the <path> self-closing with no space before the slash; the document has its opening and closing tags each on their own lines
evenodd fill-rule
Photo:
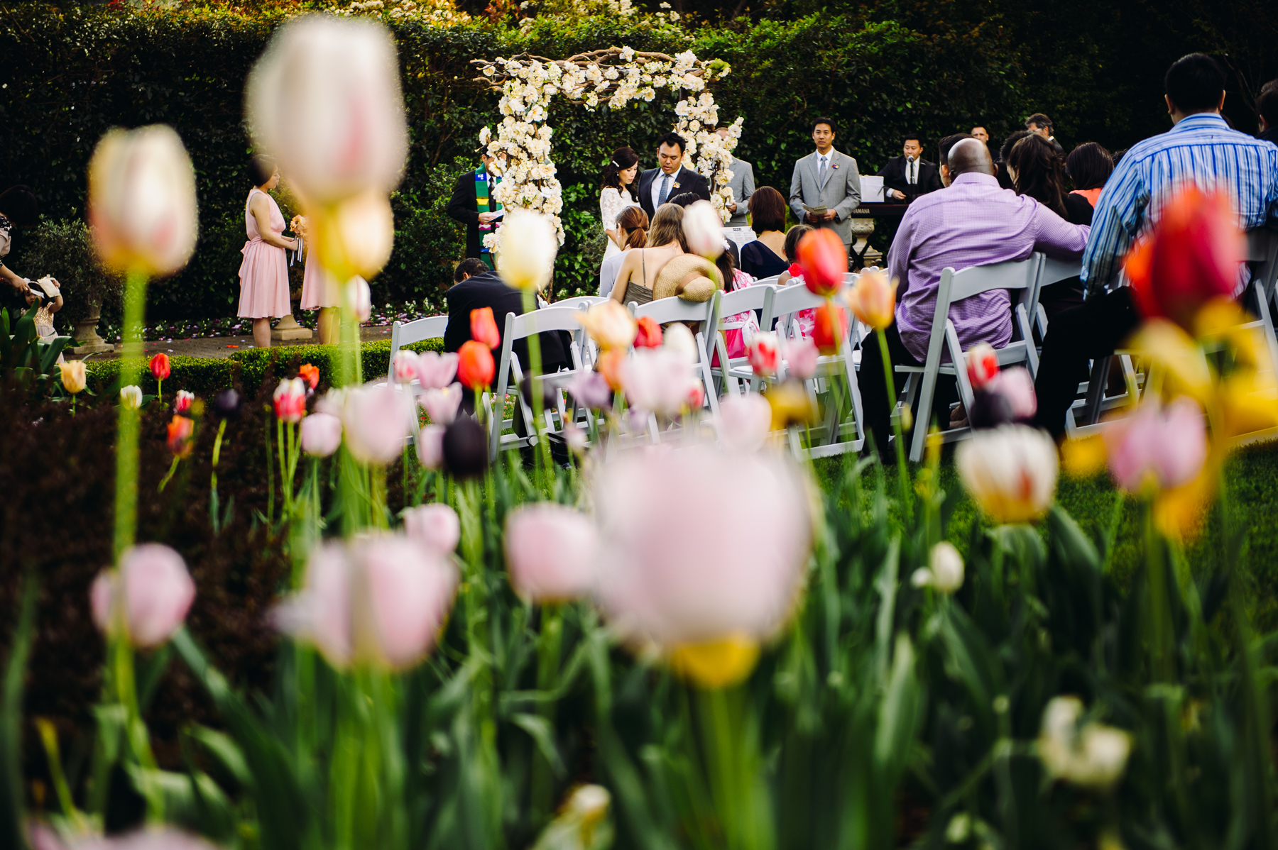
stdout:
<svg viewBox="0 0 1278 850">
<path fill-rule="evenodd" d="M 181 134 L 197 171 L 201 240 L 184 272 L 151 287 L 153 317 L 234 311 L 249 189 L 242 89 L 281 20 L 279 13 L 23 4 L 9 9 L 0 27 L 0 171 L 9 184 L 31 185 L 46 214 L 83 214 L 84 170 L 107 128 L 164 121 Z M 479 128 L 497 120 L 496 96 L 472 82 L 474 57 L 524 50 L 566 56 L 622 43 L 721 57 L 732 65 L 716 91 L 721 117 L 745 116 L 737 154 L 754 162 L 759 185 L 783 191 L 791 163 L 812 147 L 808 124 L 817 115 L 835 117 L 837 147 L 874 171 L 896 154 L 905 130 L 934 140 L 978 121 L 998 133 L 1025 108 L 1008 38 L 979 23 L 924 32 L 849 11 L 705 26 L 693 34 L 653 18 L 541 19 L 524 31 L 487 23 L 391 28 L 412 149 L 392 203 L 395 254 L 374 281 L 374 297 L 387 302 L 438 304 L 460 257 L 459 231 L 443 207 L 455 177 L 472 167 Z M 656 139 L 672 121 L 671 102 L 661 97 L 617 112 L 566 103 L 552 110 L 569 231 L 556 268 L 557 294 L 593 287 L 593 255 L 602 245 L 592 250 L 589 242 L 601 232 L 597 180 L 608 152 L 629 144 L 651 167 Z M 12 263 L 19 269 L 20 241 Z"/>
</svg>

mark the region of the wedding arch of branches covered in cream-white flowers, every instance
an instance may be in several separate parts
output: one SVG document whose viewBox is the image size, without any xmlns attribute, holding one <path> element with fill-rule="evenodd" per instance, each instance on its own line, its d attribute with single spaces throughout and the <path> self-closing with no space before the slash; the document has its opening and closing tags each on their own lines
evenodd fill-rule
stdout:
<svg viewBox="0 0 1278 850">
<path fill-rule="evenodd" d="M 594 50 L 562 60 L 520 54 L 491 63 L 483 59 L 472 63 L 483 74 L 478 80 L 501 92 L 504 117 L 496 138 L 488 128 L 479 133 L 479 143 L 506 163 L 496 200 L 502 207 L 525 207 L 548 216 L 558 231 L 560 244 L 564 242 L 560 222 L 564 198 L 551 160 L 553 129 L 546 124 L 551 98 L 556 94 L 590 111 L 599 103 L 619 108 L 635 100 L 651 101 L 662 88 L 681 96 L 675 105 L 674 130 L 688 142 L 684 165 L 705 177 L 711 202 L 727 221 L 727 204 L 734 200 L 727 185 L 732 176 L 728 166 L 741 137 L 743 119 L 728 128 L 727 139 L 721 139 L 714 131 L 718 106 L 707 91 L 707 83 L 727 77 L 731 70 L 727 63 L 702 61 L 691 51 L 668 56 L 631 47 Z M 495 235 L 486 237 L 495 239 Z"/>
</svg>

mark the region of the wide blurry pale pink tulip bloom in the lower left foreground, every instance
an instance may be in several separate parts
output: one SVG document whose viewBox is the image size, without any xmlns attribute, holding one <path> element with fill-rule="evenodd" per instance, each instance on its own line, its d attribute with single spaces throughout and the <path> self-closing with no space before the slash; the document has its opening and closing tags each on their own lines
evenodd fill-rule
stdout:
<svg viewBox="0 0 1278 850">
<path fill-rule="evenodd" d="M 456 585 L 451 562 L 403 535 L 323 544 L 307 563 L 305 587 L 276 609 L 275 623 L 336 667 L 404 669 L 433 646 Z"/>
</svg>

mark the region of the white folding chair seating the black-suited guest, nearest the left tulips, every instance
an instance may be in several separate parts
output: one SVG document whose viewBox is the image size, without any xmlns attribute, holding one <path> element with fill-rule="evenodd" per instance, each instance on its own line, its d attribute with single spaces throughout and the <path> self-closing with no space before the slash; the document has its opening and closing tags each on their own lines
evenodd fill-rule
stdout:
<svg viewBox="0 0 1278 850">
<path fill-rule="evenodd" d="M 532 313 L 524 313 L 523 315 L 516 315 L 514 313 L 506 314 L 506 332 L 502 334 L 501 339 L 501 359 L 497 361 L 497 385 L 496 392 L 487 399 L 484 399 L 484 406 L 488 411 L 488 458 L 491 461 L 497 459 L 497 454 L 504 449 L 521 448 L 524 445 L 534 445 L 537 443 L 537 430 L 533 428 L 533 408 L 524 399 L 523 392 L 520 392 L 520 385 L 524 380 L 524 368 L 519 362 L 519 355 L 514 352 L 514 343 L 519 339 L 527 339 L 534 333 L 546 333 L 553 331 L 567 331 L 574 334 L 573 341 L 569 345 L 569 360 L 573 364 L 571 369 L 561 370 L 551 374 L 542 374 L 542 385 L 550 389 L 555 394 L 555 407 L 553 410 L 544 410 L 542 412 L 544 417 L 544 425 L 547 433 L 562 433 L 564 425 L 566 422 L 573 422 L 576 419 L 576 401 L 574 399 L 571 412 L 566 408 L 562 398 L 564 384 L 570 382 L 584 366 L 581 365 L 581 350 L 579 345 L 580 334 L 583 333 L 581 323 L 576 319 L 579 306 L 576 304 L 571 305 L 555 305 L 543 308 L 541 310 L 533 310 Z M 509 389 L 514 384 L 515 388 L 515 410 L 511 419 L 505 419 L 506 408 L 506 396 Z M 514 426 L 514 416 L 520 416 L 524 421 L 525 435 L 520 436 L 518 434 L 506 434 L 507 428 Z M 555 419 L 558 419 L 558 426 L 555 425 Z M 589 416 L 589 411 L 587 411 Z"/>
</svg>

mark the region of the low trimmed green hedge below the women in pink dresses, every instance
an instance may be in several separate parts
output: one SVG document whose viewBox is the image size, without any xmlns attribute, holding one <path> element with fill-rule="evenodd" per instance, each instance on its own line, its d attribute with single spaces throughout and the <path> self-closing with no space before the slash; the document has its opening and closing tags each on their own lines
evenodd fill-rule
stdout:
<svg viewBox="0 0 1278 850">
<path fill-rule="evenodd" d="M 413 351 L 443 351 L 443 339 L 423 339 L 404 346 Z M 389 339 L 364 342 L 360 346 L 364 380 L 381 378 L 390 371 L 391 343 Z M 220 389 L 235 387 L 247 397 L 256 396 L 267 377 L 296 374 L 298 366 L 309 362 L 320 368 L 321 385 L 332 385 L 337 375 L 337 346 L 272 346 L 236 351 L 230 357 L 169 357 L 170 374 L 164 382 L 165 394 L 173 397 L 179 389 L 210 398 Z M 88 388 L 102 393 L 119 380 L 120 361 L 89 362 Z M 156 392 L 156 379 L 142 366 L 143 393 Z"/>
</svg>

